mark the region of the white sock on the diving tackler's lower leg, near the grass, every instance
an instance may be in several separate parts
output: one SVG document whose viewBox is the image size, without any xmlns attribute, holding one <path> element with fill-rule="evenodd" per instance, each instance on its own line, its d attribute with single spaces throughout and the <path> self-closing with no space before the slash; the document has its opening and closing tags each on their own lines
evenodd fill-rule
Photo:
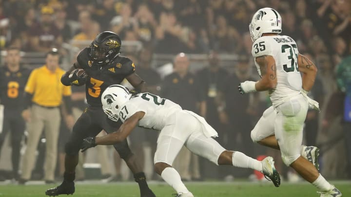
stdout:
<svg viewBox="0 0 351 197">
<path fill-rule="evenodd" d="M 161 177 L 165 180 L 169 185 L 176 190 L 177 194 L 183 193 L 188 194 L 189 190 L 185 187 L 184 183 L 180 179 L 179 173 L 173 167 L 166 167 L 162 173 Z"/>
</svg>

